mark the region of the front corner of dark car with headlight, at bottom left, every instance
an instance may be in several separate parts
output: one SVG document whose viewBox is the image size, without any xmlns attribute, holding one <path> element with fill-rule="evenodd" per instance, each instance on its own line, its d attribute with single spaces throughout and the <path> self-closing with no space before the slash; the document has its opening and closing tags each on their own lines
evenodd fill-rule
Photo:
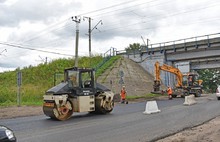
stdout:
<svg viewBox="0 0 220 142">
<path fill-rule="evenodd" d="M 13 131 L 0 125 L 0 142 L 16 142 L 16 137 Z"/>
</svg>

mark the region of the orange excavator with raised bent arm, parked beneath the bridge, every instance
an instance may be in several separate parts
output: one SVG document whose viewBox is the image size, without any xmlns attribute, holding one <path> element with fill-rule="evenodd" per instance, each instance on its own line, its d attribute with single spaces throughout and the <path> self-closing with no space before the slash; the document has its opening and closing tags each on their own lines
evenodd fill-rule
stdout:
<svg viewBox="0 0 220 142">
<path fill-rule="evenodd" d="M 187 96 L 189 94 L 194 94 L 196 97 L 201 96 L 202 93 L 202 80 L 198 79 L 198 74 L 194 72 L 189 72 L 187 74 L 182 74 L 182 72 L 175 67 L 160 63 L 157 61 L 155 63 L 155 80 L 154 80 L 154 92 L 160 91 L 161 78 L 160 71 L 166 71 L 174 74 L 176 76 L 177 84 L 174 88 L 172 97 L 180 95 L 181 97 Z"/>
</svg>

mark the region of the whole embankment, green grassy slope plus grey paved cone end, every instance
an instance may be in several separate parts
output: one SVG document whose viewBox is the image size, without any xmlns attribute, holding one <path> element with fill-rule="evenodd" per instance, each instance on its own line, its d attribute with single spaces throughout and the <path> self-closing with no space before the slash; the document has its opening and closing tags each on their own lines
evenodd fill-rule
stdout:
<svg viewBox="0 0 220 142">
<path fill-rule="evenodd" d="M 104 64 L 103 64 L 103 61 Z M 48 64 L 36 67 L 29 66 L 15 71 L 0 73 L 0 106 L 16 105 L 17 102 L 17 72 L 22 72 L 21 96 L 22 105 L 41 105 L 45 91 L 63 80 L 65 68 L 72 67 L 73 59 L 58 59 Z M 100 66 L 102 65 L 102 66 Z M 124 72 L 124 83 L 128 96 L 149 94 L 153 86 L 153 77 L 135 62 L 120 56 L 104 59 L 101 56 L 91 58 L 81 57 L 79 67 L 98 67 L 97 82 L 119 94 L 119 71 Z M 56 78 L 56 80 L 54 79 Z M 110 84 L 112 81 L 112 84 Z"/>
</svg>

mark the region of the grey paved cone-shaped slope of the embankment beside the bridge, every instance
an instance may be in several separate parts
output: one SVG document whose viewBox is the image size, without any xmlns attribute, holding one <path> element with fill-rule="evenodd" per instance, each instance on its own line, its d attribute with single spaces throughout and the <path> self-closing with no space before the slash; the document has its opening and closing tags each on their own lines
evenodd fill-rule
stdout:
<svg viewBox="0 0 220 142">
<path fill-rule="evenodd" d="M 120 71 L 124 73 L 123 85 L 126 87 L 128 96 L 146 95 L 152 91 L 154 83 L 153 76 L 140 65 L 126 57 L 121 57 L 117 60 L 114 66 L 98 78 L 98 82 L 111 88 L 115 94 L 119 94 L 121 90 L 121 85 L 119 84 Z M 112 85 L 110 81 L 112 81 Z"/>
</svg>

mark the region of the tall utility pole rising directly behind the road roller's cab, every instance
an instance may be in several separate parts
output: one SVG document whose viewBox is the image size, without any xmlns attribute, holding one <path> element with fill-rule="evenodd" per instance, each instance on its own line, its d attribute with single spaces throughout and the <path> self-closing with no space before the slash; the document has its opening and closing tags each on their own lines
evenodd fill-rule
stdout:
<svg viewBox="0 0 220 142">
<path fill-rule="evenodd" d="M 72 17 L 72 20 L 76 22 L 75 67 L 78 67 L 79 23 L 81 20 L 78 16 Z"/>
</svg>

